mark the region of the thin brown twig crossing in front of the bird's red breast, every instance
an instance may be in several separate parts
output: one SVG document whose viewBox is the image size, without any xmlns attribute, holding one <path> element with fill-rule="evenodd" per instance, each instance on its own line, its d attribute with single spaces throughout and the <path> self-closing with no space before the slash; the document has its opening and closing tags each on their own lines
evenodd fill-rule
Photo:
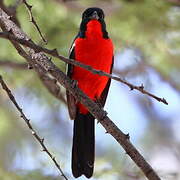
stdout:
<svg viewBox="0 0 180 180">
<path fill-rule="evenodd" d="M 160 98 L 160 97 L 158 97 L 158 96 L 156 96 L 156 95 L 146 91 L 144 89 L 144 85 L 143 84 L 141 84 L 140 86 L 136 86 L 136 85 L 133 85 L 133 84 L 131 84 L 131 83 L 121 79 L 120 77 L 113 76 L 113 75 L 108 74 L 108 73 L 106 73 L 104 71 L 101 71 L 101 70 L 93 69 L 91 66 L 86 65 L 86 64 L 82 64 L 79 61 L 74 61 L 72 59 L 68 59 L 68 58 L 60 55 L 58 53 L 57 49 L 50 50 L 50 49 L 41 47 L 39 45 L 36 45 L 31 39 L 25 40 L 25 39 L 17 38 L 13 34 L 11 34 L 11 32 L 0 32 L 0 37 L 6 38 L 6 39 L 10 39 L 10 40 L 14 40 L 14 41 L 16 41 L 16 42 L 18 42 L 18 43 L 20 43 L 20 44 L 22 44 L 24 46 L 32 48 L 37 53 L 38 52 L 45 52 L 45 53 L 47 53 L 49 55 L 52 55 L 54 57 L 59 58 L 60 60 L 66 62 L 66 63 L 73 64 L 75 66 L 79 66 L 79 67 L 84 68 L 84 69 L 86 69 L 88 71 L 91 71 L 94 74 L 98 74 L 100 76 L 106 76 L 106 77 L 109 77 L 109 78 L 114 79 L 116 81 L 119 81 L 119 82 L 127 85 L 130 88 L 130 90 L 137 90 L 137 91 L 141 92 L 142 94 L 146 94 L 146 95 L 156 99 L 157 101 L 162 102 L 162 103 L 168 105 L 168 102 L 166 101 L 166 99 Z"/>
</svg>

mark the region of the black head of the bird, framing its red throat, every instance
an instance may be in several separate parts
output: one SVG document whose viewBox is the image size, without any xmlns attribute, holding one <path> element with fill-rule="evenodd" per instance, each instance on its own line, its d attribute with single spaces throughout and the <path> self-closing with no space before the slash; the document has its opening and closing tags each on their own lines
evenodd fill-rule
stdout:
<svg viewBox="0 0 180 180">
<path fill-rule="evenodd" d="M 92 19 L 96 19 L 102 25 L 103 37 L 105 39 L 108 39 L 109 37 L 108 37 L 108 33 L 106 31 L 106 24 L 105 24 L 105 21 L 104 21 L 104 17 L 105 17 L 104 12 L 100 8 L 91 7 L 91 8 L 86 9 L 82 14 L 82 22 L 81 22 L 81 25 L 80 25 L 79 36 L 81 38 L 85 38 L 85 32 L 86 32 L 87 23 Z"/>
</svg>

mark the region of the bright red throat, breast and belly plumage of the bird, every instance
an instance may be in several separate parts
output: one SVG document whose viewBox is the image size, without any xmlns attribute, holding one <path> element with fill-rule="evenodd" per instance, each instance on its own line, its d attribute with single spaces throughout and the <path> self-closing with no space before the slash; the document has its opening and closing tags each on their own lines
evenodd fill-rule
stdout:
<svg viewBox="0 0 180 180">
<path fill-rule="evenodd" d="M 75 59 L 94 69 L 110 73 L 113 61 L 113 44 L 111 39 L 104 39 L 101 24 L 98 20 L 87 23 L 86 38 L 75 40 Z M 92 100 L 99 99 L 108 82 L 108 77 L 95 75 L 81 67 L 74 67 L 72 79 L 78 82 L 78 87 Z M 88 111 L 78 104 L 82 114 Z"/>
</svg>

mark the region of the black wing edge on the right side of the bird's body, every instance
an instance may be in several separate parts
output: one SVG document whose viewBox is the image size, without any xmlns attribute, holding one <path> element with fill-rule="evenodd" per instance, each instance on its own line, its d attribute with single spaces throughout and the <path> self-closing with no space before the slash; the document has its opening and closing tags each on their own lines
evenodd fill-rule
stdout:
<svg viewBox="0 0 180 180">
<path fill-rule="evenodd" d="M 112 65 L 111 65 L 110 74 L 112 74 L 113 65 L 114 65 L 114 56 L 112 57 Z M 110 84 L 111 84 L 111 78 L 109 78 L 108 83 L 107 83 L 106 87 L 104 88 L 104 90 L 103 90 L 103 92 L 101 94 L 100 99 L 98 99 L 98 103 L 100 103 L 102 105 L 102 107 L 104 107 L 104 105 L 105 105 Z"/>
</svg>

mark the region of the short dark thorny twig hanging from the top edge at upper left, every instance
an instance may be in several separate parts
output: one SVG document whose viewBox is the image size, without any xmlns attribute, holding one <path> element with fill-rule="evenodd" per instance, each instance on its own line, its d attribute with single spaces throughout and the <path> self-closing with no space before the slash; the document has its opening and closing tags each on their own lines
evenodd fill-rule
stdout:
<svg viewBox="0 0 180 180">
<path fill-rule="evenodd" d="M 36 27 L 36 29 L 37 29 L 39 35 L 41 36 L 42 40 L 43 40 L 45 43 L 47 43 L 47 40 L 46 40 L 46 39 L 44 38 L 44 36 L 42 35 L 41 30 L 40 30 L 39 26 L 37 25 L 37 23 L 36 23 L 36 21 L 35 21 L 35 19 L 34 19 L 34 17 L 33 17 L 33 14 L 32 14 L 32 6 L 29 5 L 26 0 L 23 0 L 23 3 L 25 4 L 25 6 L 26 6 L 26 8 L 27 8 L 27 10 L 28 10 L 28 12 L 29 12 L 30 22 L 32 22 L 32 23 L 34 24 L 34 26 Z"/>
</svg>

